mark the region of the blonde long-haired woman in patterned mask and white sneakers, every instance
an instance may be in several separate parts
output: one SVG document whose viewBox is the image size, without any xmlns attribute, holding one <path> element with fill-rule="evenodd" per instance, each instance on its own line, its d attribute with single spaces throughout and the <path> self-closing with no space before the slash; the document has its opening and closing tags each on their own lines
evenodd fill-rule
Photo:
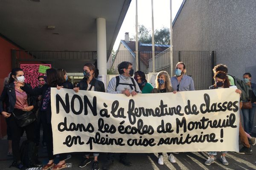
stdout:
<svg viewBox="0 0 256 170">
<path fill-rule="evenodd" d="M 174 89 L 171 86 L 171 81 L 169 78 L 169 74 L 166 71 L 161 71 L 157 74 L 156 77 L 156 88 L 154 88 L 151 93 L 171 93 L 173 92 L 176 94 L 177 91 L 174 91 Z M 168 160 L 171 163 L 176 163 L 175 157 L 172 153 L 167 153 Z M 158 153 L 158 164 L 163 165 L 163 153 Z"/>
</svg>

